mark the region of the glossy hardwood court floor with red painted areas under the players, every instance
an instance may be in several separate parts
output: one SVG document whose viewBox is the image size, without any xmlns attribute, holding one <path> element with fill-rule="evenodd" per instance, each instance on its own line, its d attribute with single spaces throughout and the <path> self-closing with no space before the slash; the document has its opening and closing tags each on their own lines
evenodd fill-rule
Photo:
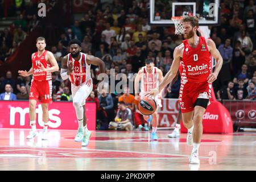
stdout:
<svg viewBox="0 0 256 182">
<path fill-rule="evenodd" d="M 256 133 L 204 134 L 200 165 L 189 164 L 187 134 L 158 141 L 147 131 L 93 131 L 87 147 L 74 141 L 75 130 L 49 130 L 27 140 L 27 129 L 0 129 L 0 170 L 256 170 Z"/>
</svg>

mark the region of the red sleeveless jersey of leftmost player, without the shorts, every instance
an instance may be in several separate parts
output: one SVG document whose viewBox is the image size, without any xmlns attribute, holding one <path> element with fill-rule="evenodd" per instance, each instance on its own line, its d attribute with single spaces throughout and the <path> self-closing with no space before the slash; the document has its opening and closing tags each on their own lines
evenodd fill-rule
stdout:
<svg viewBox="0 0 256 182">
<path fill-rule="evenodd" d="M 51 72 L 44 72 L 39 68 L 41 66 L 40 63 L 44 65 L 44 68 L 51 68 L 52 66 L 51 64 L 47 63 L 46 53 L 47 51 L 45 50 L 42 55 L 38 56 L 38 52 L 35 52 L 35 55 L 32 57 L 33 80 L 45 81 L 52 79 Z"/>
</svg>

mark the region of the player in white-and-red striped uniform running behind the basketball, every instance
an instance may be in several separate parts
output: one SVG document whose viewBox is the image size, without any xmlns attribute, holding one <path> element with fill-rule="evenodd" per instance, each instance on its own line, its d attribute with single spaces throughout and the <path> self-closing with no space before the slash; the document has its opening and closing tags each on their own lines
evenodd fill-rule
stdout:
<svg viewBox="0 0 256 182">
<path fill-rule="evenodd" d="M 163 73 L 160 69 L 154 66 L 154 61 L 152 59 L 147 59 L 145 61 L 146 66 L 139 70 L 137 76 L 135 77 L 134 88 L 135 88 L 135 100 L 142 100 L 146 94 L 151 89 L 158 88 L 159 83 L 163 80 Z M 139 92 L 139 81 L 141 81 L 141 92 Z M 139 94 L 138 94 L 139 93 Z M 152 133 L 151 139 L 157 140 L 156 130 L 158 127 L 158 106 L 162 107 L 161 99 L 162 92 L 153 98 L 157 104 L 156 111 L 154 114 L 148 116 L 143 115 L 144 120 L 151 122 L 152 120 Z"/>
</svg>

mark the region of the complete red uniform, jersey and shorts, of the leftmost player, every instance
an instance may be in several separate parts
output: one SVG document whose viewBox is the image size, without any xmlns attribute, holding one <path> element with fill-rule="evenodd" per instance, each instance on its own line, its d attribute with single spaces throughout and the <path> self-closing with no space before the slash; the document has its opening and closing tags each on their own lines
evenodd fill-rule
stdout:
<svg viewBox="0 0 256 182">
<path fill-rule="evenodd" d="M 52 102 L 52 74 L 39 68 L 40 63 L 44 65 L 44 68 L 52 67 L 46 60 L 46 53 L 45 50 L 39 56 L 38 52 L 35 52 L 32 57 L 33 77 L 30 87 L 30 100 L 40 100 L 42 103 Z"/>
</svg>

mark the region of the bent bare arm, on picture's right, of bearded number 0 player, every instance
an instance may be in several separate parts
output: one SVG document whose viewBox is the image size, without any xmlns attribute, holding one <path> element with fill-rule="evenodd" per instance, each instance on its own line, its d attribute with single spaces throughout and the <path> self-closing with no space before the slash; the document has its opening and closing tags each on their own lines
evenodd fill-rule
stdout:
<svg viewBox="0 0 256 182">
<path fill-rule="evenodd" d="M 213 73 L 210 73 L 210 75 L 207 78 L 207 81 L 209 83 L 212 83 L 214 80 L 217 79 L 218 73 L 221 70 L 223 59 L 221 57 L 220 52 L 218 52 L 218 49 L 216 48 L 215 43 L 211 39 L 207 39 L 207 45 L 209 46 L 210 54 L 213 56 L 213 58 L 216 60 L 216 66 Z"/>
</svg>

